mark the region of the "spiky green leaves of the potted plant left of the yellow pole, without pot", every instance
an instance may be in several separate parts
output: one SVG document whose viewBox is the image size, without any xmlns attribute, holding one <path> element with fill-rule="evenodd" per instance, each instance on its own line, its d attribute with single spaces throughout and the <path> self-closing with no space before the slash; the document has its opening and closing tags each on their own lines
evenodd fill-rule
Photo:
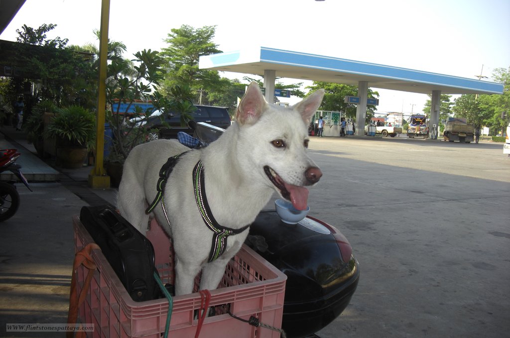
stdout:
<svg viewBox="0 0 510 338">
<path fill-rule="evenodd" d="M 80 106 L 57 109 L 46 134 L 57 144 L 82 146 L 89 150 L 95 141 L 95 115 Z"/>
</svg>

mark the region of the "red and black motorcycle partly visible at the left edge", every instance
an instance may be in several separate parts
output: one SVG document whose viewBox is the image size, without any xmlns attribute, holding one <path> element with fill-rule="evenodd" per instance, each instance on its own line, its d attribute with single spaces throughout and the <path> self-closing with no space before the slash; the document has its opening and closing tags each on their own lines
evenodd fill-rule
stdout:
<svg viewBox="0 0 510 338">
<path fill-rule="evenodd" d="M 21 154 L 17 149 L 1 149 L 0 150 L 0 173 L 10 171 L 19 178 L 23 184 L 29 186 L 27 178 L 21 173 L 21 166 L 16 164 L 16 159 Z M 16 213 L 19 207 L 19 194 L 14 185 L 16 180 L 0 181 L 0 222 L 5 221 Z"/>
</svg>

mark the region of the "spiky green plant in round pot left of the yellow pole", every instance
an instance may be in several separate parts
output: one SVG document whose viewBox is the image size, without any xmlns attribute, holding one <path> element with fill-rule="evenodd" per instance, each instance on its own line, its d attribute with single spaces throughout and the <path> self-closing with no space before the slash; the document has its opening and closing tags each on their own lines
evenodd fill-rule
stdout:
<svg viewBox="0 0 510 338">
<path fill-rule="evenodd" d="M 57 109 L 45 134 L 56 140 L 57 166 L 80 168 L 94 146 L 95 115 L 75 105 Z"/>
</svg>

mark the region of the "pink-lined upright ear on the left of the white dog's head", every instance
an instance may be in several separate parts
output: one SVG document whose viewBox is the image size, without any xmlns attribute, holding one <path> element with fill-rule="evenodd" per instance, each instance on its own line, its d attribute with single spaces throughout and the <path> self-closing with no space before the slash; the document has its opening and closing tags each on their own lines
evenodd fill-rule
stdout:
<svg viewBox="0 0 510 338">
<path fill-rule="evenodd" d="M 257 84 L 257 82 L 250 83 L 237 107 L 237 123 L 242 125 L 245 123 L 253 124 L 257 122 L 266 105 L 267 102 L 260 91 L 259 84 Z"/>
</svg>

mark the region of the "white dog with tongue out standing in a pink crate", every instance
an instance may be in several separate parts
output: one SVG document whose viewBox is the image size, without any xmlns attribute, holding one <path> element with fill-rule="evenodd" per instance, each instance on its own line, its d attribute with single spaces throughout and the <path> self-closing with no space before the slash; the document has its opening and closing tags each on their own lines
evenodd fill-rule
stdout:
<svg viewBox="0 0 510 338">
<path fill-rule="evenodd" d="M 268 104 L 251 83 L 235 123 L 209 146 L 190 150 L 176 140 L 157 140 L 131 151 L 118 209 L 142 233 L 154 213 L 173 238 L 176 295 L 192 292 L 202 268 L 200 289 L 218 287 L 248 226 L 274 191 L 296 209 L 307 207 L 305 186 L 322 176 L 307 155 L 308 126 L 323 95 L 319 90 L 283 108 Z M 167 160 L 173 169 L 164 166 Z"/>
</svg>

